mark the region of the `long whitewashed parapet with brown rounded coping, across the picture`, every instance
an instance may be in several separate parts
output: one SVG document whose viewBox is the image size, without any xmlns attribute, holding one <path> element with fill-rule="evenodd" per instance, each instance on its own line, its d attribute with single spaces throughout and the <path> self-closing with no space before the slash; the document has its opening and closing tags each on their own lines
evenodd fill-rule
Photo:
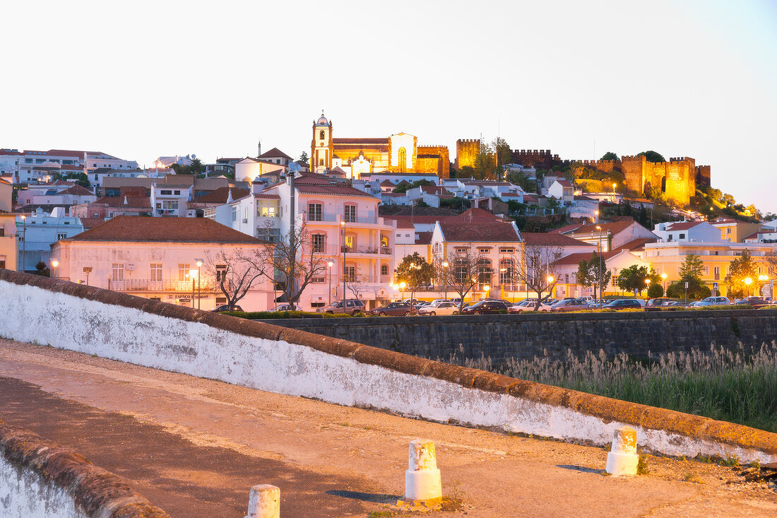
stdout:
<svg viewBox="0 0 777 518">
<path fill-rule="evenodd" d="M 19 341 L 435 422 L 601 446 L 630 425 L 647 451 L 777 461 L 774 433 L 354 341 L 2 269 L 0 293 L 0 335 Z"/>
</svg>

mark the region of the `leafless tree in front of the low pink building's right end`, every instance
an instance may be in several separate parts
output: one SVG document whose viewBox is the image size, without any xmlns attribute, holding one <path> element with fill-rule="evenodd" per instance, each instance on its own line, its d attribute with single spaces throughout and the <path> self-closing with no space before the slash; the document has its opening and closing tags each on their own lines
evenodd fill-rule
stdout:
<svg viewBox="0 0 777 518">
<path fill-rule="evenodd" d="M 205 271 L 215 279 L 218 289 L 226 297 L 228 311 L 235 309 L 235 304 L 248 294 L 257 279 L 265 275 L 267 268 L 266 253 L 248 254 L 243 250 L 221 248 L 214 257 L 211 254 L 206 257 Z"/>
</svg>

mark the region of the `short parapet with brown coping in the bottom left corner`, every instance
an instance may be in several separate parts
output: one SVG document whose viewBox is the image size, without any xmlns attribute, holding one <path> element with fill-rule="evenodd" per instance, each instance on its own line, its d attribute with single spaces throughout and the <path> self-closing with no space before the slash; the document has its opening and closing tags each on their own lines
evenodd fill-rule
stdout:
<svg viewBox="0 0 777 518">
<path fill-rule="evenodd" d="M 115 474 L 2 421 L 0 516 L 169 518 Z"/>
</svg>

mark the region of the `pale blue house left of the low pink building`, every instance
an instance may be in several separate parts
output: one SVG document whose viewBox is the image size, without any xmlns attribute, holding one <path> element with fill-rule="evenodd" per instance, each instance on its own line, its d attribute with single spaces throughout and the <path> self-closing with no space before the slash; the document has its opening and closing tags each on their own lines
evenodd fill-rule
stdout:
<svg viewBox="0 0 777 518">
<path fill-rule="evenodd" d="M 38 208 L 30 215 L 17 216 L 16 228 L 19 233 L 16 261 L 19 269 L 24 268 L 26 271 L 35 271 L 35 265 L 40 261 L 51 264 L 51 245 L 84 231 L 81 219 L 65 215 L 61 207 L 51 212 Z"/>
</svg>

